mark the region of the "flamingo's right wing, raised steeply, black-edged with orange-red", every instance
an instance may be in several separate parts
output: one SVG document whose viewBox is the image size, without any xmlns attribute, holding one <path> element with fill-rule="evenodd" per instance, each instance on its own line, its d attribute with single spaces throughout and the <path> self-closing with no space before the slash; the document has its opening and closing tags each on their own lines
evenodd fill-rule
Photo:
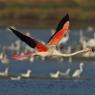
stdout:
<svg viewBox="0 0 95 95">
<path fill-rule="evenodd" d="M 59 22 L 56 28 L 56 32 L 49 39 L 48 45 L 56 46 L 62 39 L 62 37 L 66 34 L 66 32 L 68 32 L 68 29 L 69 29 L 69 15 L 66 14 L 66 16 L 63 17 L 62 20 Z"/>
</svg>

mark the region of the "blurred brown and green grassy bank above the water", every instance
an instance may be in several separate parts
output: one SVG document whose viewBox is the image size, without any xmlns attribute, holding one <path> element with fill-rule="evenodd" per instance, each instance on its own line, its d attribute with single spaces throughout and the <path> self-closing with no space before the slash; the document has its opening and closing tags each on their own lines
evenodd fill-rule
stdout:
<svg viewBox="0 0 95 95">
<path fill-rule="evenodd" d="M 71 27 L 95 25 L 95 0 L 0 0 L 0 26 L 55 28 L 69 13 Z"/>
</svg>

